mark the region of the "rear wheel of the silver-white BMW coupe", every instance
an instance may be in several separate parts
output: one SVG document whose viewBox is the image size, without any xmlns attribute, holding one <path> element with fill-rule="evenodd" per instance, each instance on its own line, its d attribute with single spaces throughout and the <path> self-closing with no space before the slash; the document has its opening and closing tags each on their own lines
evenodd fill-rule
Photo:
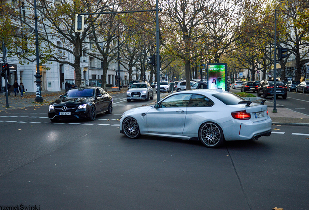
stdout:
<svg viewBox="0 0 309 210">
<path fill-rule="evenodd" d="M 217 148 L 224 143 L 221 127 L 212 122 L 206 122 L 201 125 L 198 138 L 204 146 L 209 148 Z"/>
</svg>

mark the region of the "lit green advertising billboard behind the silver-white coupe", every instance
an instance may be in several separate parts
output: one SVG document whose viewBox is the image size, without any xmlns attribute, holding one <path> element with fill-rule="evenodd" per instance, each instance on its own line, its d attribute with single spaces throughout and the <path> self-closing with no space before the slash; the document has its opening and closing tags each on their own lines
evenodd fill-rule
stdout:
<svg viewBox="0 0 309 210">
<path fill-rule="evenodd" d="M 226 63 L 207 64 L 208 89 L 226 90 Z"/>
</svg>

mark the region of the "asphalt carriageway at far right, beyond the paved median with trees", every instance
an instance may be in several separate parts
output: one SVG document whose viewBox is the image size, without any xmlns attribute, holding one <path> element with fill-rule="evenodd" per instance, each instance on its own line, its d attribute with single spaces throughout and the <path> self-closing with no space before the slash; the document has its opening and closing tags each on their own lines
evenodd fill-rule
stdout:
<svg viewBox="0 0 309 210">
<path fill-rule="evenodd" d="M 240 89 L 231 88 L 230 92 L 240 92 Z M 257 93 L 248 93 L 257 96 Z M 286 99 L 279 97 L 276 102 L 277 105 L 284 105 L 286 108 L 292 109 L 293 111 L 309 115 L 309 93 L 288 92 Z"/>
</svg>

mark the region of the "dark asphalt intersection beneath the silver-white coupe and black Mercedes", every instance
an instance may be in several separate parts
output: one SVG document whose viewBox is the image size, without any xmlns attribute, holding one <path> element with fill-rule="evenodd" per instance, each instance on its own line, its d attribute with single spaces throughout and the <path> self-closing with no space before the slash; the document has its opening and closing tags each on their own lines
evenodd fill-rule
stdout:
<svg viewBox="0 0 309 210">
<path fill-rule="evenodd" d="M 113 114 L 92 122 L 51 123 L 47 106 L 1 113 L 0 206 L 309 209 L 308 127 L 274 125 L 270 137 L 219 149 L 120 134 L 121 114 L 151 102 L 114 95 Z"/>
</svg>

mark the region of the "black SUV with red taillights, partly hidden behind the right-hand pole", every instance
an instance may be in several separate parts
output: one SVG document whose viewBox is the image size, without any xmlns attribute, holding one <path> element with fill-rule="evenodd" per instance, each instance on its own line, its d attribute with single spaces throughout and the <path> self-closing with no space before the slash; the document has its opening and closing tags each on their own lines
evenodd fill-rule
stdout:
<svg viewBox="0 0 309 210">
<path fill-rule="evenodd" d="M 258 87 L 257 96 L 267 97 L 274 95 L 274 80 L 263 80 Z M 287 98 L 287 87 L 281 82 L 276 81 L 276 96 L 282 96 L 283 99 Z"/>
</svg>

